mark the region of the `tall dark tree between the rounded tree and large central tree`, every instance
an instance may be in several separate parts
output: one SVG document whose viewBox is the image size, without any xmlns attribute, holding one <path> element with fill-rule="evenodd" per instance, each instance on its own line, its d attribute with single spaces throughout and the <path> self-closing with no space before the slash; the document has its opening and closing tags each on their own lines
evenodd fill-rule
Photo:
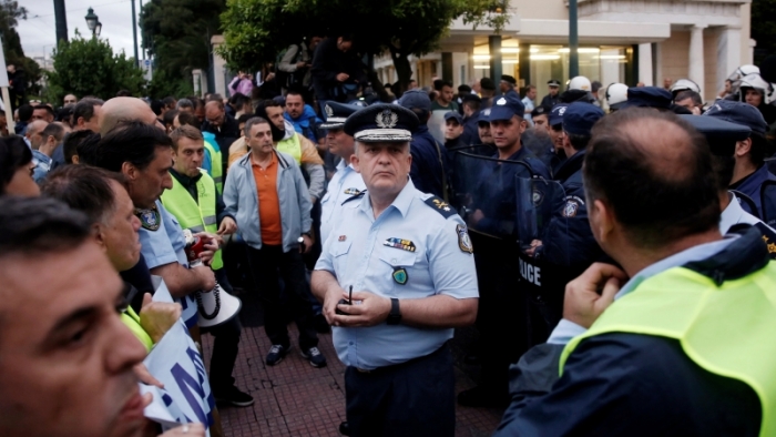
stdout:
<svg viewBox="0 0 776 437">
<path fill-rule="evenodd" d="M 211 64 L 211 37 L 218 33 L 218 16 L 225 8 L 224 0 L 151 0 L 143 4 L 140 27 L 143 47 L 154 57 L 154 74 L 161 72 L 174 82 L 173 90 L 190 90 L 192 70 L 207 70 Z"/>
</svg>

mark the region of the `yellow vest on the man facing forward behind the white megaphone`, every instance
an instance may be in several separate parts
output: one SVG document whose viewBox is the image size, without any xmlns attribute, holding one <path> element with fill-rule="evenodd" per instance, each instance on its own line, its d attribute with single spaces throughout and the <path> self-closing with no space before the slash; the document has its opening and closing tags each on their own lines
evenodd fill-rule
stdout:
<svg viewBox="0 0 776 437">
<path fill-rule="evenodd" d="M 173 176 L 173 187 L 162 194 L 162 204 L 177 218 L 181 227 L 192 233 L 218 231 L 218 221 L 215 211 L 215 183 L 204 170 L 200 170 L 202 177 L 196 182 L 196 194 L 200 197 L 195 202 L 188 191 Z M 221 250 L 213 256 L 211 267 L 217 271 L 224 266 Z"/>
</svg>

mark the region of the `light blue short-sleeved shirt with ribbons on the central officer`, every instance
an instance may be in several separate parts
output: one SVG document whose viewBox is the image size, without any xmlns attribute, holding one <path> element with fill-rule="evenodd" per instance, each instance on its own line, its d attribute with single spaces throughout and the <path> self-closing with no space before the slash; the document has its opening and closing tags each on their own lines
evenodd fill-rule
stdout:
<svg viewBox="0 0 776 437">
<path fill-rule="evenodd" d="M 377 218 L 369 196 L 345 204 L 341 222 L 324 245 L 315 270 L 328 271 L 344 289 L 382 297 L 423 298 L 438 294 L 479 297 L 466 225 L 452 207 L 415 189 L 411 181 Z M 404 282 L 404 284 L 402 284 Z M 426 356 L 452 338 L 453 329 L 387 325 L 333 327 L 339 359 L 374 369 Z"/>
</svg>

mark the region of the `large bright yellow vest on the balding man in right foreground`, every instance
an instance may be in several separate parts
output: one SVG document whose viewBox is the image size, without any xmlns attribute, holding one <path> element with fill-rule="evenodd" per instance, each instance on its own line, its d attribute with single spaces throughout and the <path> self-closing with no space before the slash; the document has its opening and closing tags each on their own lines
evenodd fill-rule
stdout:
<svg viewBox="0 0 776 437">
<path fill-rule="evenodd" d="M 645 280 L 565 346 L 561 373 L 580 342 L 609 333 L 678 341 L 698 366 L 752 387 L 763 407 L 759 435 L 776 436 L 776 262 L 722 285 L 684 267 Z"/>
</svg>

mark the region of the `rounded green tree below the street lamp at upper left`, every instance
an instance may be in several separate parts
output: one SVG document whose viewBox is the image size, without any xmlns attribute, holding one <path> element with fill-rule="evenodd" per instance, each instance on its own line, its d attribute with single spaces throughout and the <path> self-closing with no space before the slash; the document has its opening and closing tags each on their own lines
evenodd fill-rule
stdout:
<svg viewBox="0 0 776 437">
<path fill-rule="evenodd" d="M 114 54 L 108 40 L 83 39 L 75 31 L 71 41 L 60 41 L 53 54 L 54 71 L 48 73 L 49 100 L 65 94 L 110 99 L 121 90 L 140 96 L 145 87 L 143 70 L 124 52 Z"/>
</svg>

